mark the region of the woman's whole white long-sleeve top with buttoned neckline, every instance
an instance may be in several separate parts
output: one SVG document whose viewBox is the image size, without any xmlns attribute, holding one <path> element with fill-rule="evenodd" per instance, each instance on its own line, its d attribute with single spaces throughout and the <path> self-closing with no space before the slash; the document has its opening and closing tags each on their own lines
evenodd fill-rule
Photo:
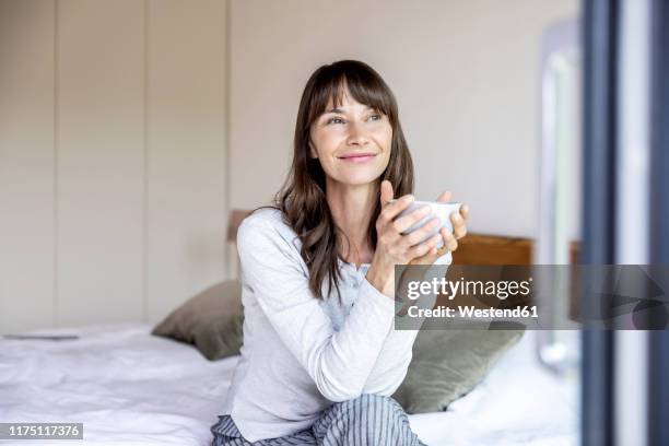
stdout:
<svg viewBox="0 0 669 446">
<path fill-rule="evenodd" d="M 366 280 L 369 263 L 339 259 L 342 300 L 327 280 L 319 300 L 300 248 L 275 209 L 254 212 L 237 232 L 244 344 L 222 414 L 249 442 L 308 429 L 334 401 L 391 396 L 411 361 L 418 330 L 394 329 L 396 303 Z"/>
</svg>

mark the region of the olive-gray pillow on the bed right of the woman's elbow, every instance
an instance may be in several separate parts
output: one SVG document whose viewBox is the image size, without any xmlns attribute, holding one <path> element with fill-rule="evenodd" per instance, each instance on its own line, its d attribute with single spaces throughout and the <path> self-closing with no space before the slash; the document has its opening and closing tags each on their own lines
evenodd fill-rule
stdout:
<svg viewBox="0 0 669 446">
<path fill-rule="evenodd" d="M 524 330 L 421 330 L 404 380 L 392 395 L 407 413 L 441 412 L 467 395 Z"/>
</svg>

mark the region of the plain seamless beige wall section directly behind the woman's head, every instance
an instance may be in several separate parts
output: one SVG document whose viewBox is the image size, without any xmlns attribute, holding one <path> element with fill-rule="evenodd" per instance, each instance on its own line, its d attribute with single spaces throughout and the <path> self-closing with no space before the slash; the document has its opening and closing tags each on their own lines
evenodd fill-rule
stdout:
<svg viewBox="0 0 669 446">
<path fill-rule="evenodd" d="M 374 67 L 398 98 L 419 198 L 453 190 L 471 206 L 471 231 L 536 236 L 541 36 L 577 8 L 577 0 L 233 0 L 233 207 L 270 200 L 289 168 L 307 78 L 352 58 Z"/>
</svg>

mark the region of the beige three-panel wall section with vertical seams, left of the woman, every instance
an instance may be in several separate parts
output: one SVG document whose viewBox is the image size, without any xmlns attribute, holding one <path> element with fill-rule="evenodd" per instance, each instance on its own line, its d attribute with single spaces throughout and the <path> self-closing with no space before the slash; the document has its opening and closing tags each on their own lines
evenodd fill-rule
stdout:
<svg viewBox="0 0 669 446">
<path fill-rule="evenodd" d="M 0 332 L 225 275 L 224 0 L 0 2 Z"/>
</svg>

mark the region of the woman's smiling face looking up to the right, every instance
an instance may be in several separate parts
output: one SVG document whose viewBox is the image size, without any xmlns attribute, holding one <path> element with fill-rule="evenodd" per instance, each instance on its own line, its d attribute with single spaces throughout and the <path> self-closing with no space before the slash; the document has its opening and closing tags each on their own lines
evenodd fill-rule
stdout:
<svg viewBox="0 0 669 446">
<path fill-rule="evenodd" d="M 309 156 L 318 157 L 328 183 L 372 184 L 388 166 L 391 141 L 388 117 L 351 98 L 347 90 L 338 108 L 330 99 L 312 124 Z"/>
</svg>

